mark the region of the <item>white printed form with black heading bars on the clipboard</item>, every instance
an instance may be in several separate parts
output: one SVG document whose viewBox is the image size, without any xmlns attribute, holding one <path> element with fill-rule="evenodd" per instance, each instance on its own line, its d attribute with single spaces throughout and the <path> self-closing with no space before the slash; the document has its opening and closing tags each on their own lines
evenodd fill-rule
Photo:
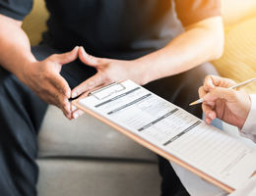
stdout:
<svg viewBox="0 0 256 196">
<path fill-rule="evenodd" d="M 79 104 L 233 189 L 256 171 L 256 149 L 131 80 L 101 89 Z"/>
</svg>

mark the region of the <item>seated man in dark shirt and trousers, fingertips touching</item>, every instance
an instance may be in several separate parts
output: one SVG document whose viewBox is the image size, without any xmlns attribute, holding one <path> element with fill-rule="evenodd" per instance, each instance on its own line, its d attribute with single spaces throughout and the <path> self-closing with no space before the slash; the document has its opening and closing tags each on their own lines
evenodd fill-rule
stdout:
<svg viewBox="0 0 256 196">
<path fill-rule="evenodd" d="M 47 104 L 70 120 L 78 118 L 82 114 L 71 107 L 71 97 L 129 78 L 201 118 L 201 108 L 189 108 L 188 101 L 197 97 L 205 75 L 216 73 L 202 64 L 223 53 L 220 0 L 45 2 L 48 29 L 42 43 L 31 47 L 21 25 L 32 0 L 0 0 L 0 194 L 5 196 L 36 195 L 36 137 Z M 162 195 L 185 192 L 162 158 L 160 174 Z"/>
</svg>

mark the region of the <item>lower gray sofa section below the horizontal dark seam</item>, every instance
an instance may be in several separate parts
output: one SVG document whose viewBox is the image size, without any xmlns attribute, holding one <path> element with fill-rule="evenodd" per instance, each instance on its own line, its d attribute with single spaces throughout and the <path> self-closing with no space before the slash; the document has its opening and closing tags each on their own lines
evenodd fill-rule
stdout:
<svg viewBox="0 0 256 196">
<path fill-rule="evenodd" d="M 160 195 L 157 164 L 44 159 L 38 165 L 38 196 Z"/>
</svg>

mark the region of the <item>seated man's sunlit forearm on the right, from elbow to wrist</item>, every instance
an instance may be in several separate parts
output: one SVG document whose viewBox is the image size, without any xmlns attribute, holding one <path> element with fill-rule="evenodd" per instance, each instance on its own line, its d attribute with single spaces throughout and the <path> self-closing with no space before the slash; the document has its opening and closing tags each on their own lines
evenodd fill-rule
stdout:
<svg viewBox="0 0 256 196">
<path fill-rule="evenodd" d="M 148 70 L 146 82 L 188 71 L 223 53 L 222 18 L 211 18 L 190 26 L 159 51 L 138 60 Z M 150 69 L 147 69 L 150 68 Z"/>
</svg>

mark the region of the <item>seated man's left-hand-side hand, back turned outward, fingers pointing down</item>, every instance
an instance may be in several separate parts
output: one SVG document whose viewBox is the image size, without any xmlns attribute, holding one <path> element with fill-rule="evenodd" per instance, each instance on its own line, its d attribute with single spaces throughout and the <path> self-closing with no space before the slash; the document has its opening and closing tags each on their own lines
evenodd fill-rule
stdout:
<svg viewBox="0 0 256 196">
<path fill-rule="evenodd" d="M 44 102 L 57 106 L 68 119 L 72 119 L 71 89 L 67 81 L 60 75 L 63 65 L 78 58 L 79 47 L 64 54 L 54 54 L 41 62 L 25 66 L 19 79 L 28 85 Z"/>
</svg>

